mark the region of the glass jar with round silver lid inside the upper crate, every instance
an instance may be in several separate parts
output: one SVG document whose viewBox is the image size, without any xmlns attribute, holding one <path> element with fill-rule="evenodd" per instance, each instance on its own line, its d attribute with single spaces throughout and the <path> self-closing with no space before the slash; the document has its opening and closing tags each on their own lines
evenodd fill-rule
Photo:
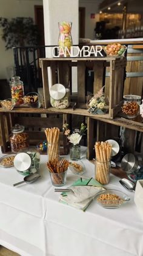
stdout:
<svg viewBox="0 0 143 256">
<path fill-rule="evenodd" d="M 54 84 L 50 88 L 50 104 L 56 109 L 67 109 L 70 106 L 70 89 Z"/>
</svg>

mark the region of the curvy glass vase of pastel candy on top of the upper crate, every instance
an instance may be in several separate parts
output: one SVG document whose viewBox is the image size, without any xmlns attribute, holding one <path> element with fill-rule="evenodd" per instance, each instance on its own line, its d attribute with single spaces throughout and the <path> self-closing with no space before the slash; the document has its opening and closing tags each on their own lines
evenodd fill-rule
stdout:
<svg viewBox="0 0 143 256">
<path fill-rule="evenodd" d="M 67 57 L 70 56 L 71 46 L 73 45 L 73 41 L 71 38 L 71 26 L 72 22 L 58 22 L 59 25 L 59 52 L 58 56 Z"/>
</svg>

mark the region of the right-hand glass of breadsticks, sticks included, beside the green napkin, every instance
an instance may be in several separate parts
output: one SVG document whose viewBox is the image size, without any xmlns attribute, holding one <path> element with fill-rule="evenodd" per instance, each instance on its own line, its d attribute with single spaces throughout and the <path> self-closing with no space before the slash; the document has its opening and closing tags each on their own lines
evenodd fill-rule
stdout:
<svg viewBox="0 0 143 256">
<path fill-rule="evenodd" d="M 95 179 L 105 185 L 110 181 L 111 168 L 111 144 L 108 142 L 95 143 Z"/>
</svg>

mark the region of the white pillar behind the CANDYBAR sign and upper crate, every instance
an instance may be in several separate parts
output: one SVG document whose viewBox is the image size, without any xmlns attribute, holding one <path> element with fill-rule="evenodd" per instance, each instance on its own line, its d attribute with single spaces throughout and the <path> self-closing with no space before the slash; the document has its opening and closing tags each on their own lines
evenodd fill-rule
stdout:
<svg viewBox="0 0 143 256">
<path fill-rule="evenodd" d="M 78 0 L 43 0 L 45 45 L 58 45 L 59 21 L 71 21 L 73 44 L 79 43 L 79 1 Z M 46 57 L 52 57 L 52 51 L 46 49 Z M 76 70 L 74 70 L 76 72 Z M 77 78 L 74 74 L 73 92 L 76 91 Z"/>
</svg>

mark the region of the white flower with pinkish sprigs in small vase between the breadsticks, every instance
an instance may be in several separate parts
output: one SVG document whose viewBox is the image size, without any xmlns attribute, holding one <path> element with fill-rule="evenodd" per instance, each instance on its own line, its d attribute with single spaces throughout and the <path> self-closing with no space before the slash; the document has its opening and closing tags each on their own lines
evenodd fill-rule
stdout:
<svg viewBox="0 0 143 256">
<path fill-rule="evenodd" d="M 70 143 L 75 146 L 78 145 L 81 141 L 81 138 L 85 134 L 87 127 L 84 125 L 84 123 L 82 123 L 80 129 L 75 129 L 73 133 L 71 133 L 70 129 L 68 129 L 68 124 L 65 123 L 63 126 L 63 130 L 64 135 L 66 135 Z"/>
</svg>

